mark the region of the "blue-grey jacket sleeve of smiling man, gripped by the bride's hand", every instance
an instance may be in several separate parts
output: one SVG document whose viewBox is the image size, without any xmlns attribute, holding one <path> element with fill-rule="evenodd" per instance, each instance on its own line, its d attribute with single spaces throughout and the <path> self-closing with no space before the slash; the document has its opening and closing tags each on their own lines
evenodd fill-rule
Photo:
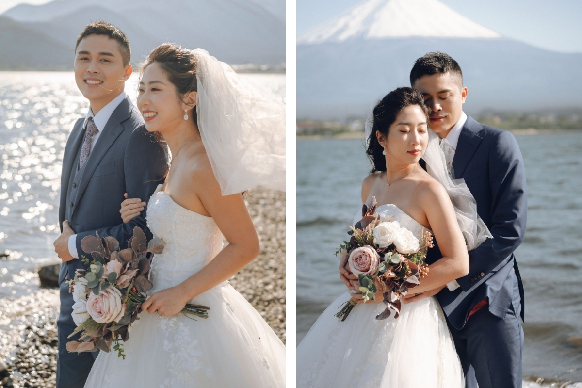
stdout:
<svg viewBox="0 0 582 388">
<path fill-rule="evenodd" d="M 127 198 L 140 198 L 147 202 L 154 193 L 158 184 L 164 183 L 164 176 L 168 170 L 168 162 L 164 149 L 154 140 L 145 126 L 140 126 L 133 131 L 127 142 L 125 158 L 123 162 L 125 173 L 125 188 Z M 121 202 L 119 202 L 121 208 Z M 121 220 L 121 215 L 119 216 Z M 81 240 L 85 236 L 100 237 L 111 236 L 119 241 L 120 247 L 126 247 L 127 240 L 133 236 L 133 228 L 139 226 L 148 240 L 152 238 L 150 230 L 145 223 L 145 211 L 128 223 L 102 227 L 97 230 L 87 230 L 77 234 L 76 247 L 81 255 L 87 255 L 81 248 Z"/>
</svg>

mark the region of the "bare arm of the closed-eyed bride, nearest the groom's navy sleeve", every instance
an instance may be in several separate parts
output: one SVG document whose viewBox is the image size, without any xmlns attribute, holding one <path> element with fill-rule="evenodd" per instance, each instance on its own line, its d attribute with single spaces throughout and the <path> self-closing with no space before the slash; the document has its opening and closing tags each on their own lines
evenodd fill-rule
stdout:
<svg viewBox="0 0 582 388">
<path fill-rule="evenodd" d="M 469 272 L 467 246 L 445 188 L 435 181 L 428 182 L 427 190 L 420 194 L 419 203 L 443 257 L 429 266 L 430 272 L 420 281 L 420 286 L 410 289 L 412 295 L 442 289 L 445 284 Z"/>
</svg>

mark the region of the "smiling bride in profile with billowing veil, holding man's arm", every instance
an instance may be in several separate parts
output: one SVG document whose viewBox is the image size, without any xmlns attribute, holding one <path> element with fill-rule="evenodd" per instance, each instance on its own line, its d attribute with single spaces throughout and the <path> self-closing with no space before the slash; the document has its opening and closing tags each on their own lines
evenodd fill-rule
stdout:
<svg viewBox="0 0 582 388">
<path fill-rule="evenodd" d="M 125 359 L 101 352 L 85 387 L 285 386 L 285 346 L 227 282 L 259 250 L 241 193 L 284 189 L 284 106 L 207 52 L 171 44 L 146 60 L 137 102 L 173 155 L 146 212 L 165 248 Z M 144 208 L 124 201 L 124 222 Z M 208 318 L 179 314 L 187 302 L 210 307 Z"/>
</svg>

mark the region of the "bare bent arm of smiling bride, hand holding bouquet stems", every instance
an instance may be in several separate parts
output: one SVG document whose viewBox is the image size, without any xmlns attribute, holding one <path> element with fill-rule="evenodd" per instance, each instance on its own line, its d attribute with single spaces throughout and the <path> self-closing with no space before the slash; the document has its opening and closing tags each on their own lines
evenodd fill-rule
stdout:
<svg viewBox="0 0 582 388">
<path fill-rule="evenodd" d="M 178 314 L 186 303 L 228 280 L 259 254 L 260 245 L 253 220 L 241 194 L 222 196 L 220 186 L 212 173 L 210 163 L 204 172 L 194 173 L 191 190 L 217 223 L 228 245 L 199 272 L 189 279 L 153 294 L 142 305 L 144 311 L 171 316 Z M 189 184 L 185 180 L 181 184 Z M 198 188 L 198 189 L 197 189 Z"/>
</svg>

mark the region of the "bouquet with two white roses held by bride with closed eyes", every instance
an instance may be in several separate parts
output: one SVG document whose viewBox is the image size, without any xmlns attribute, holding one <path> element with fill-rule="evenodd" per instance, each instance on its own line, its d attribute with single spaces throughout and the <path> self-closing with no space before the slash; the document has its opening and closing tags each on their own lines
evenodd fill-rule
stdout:
<svg viewBox="0 0 582 388">
<path fill-rule="evenodd" d="M 344 241 L 336 254 L 349 255 L 348 264 L 358 277 L 364 301 L 373 300 L 381 287 L 386 309 L 376 319 L 388 318 L 391 309 L 398 318 L 402 297 L 428 275 L 424 259 L 428 248 L 433 247 L 432 234 L 427 230 L 418 240 L 410 230 L 400 227 L 396 221 L 391 222 L 390 218 L 381 222 L 376 208 L 375 197 L 370 208 L 363 205 L 361 220 L 350 226 L 350 241 Z M 356 304 L 351 298 L 336 316 L 345 321 Z"/>
</svg>

